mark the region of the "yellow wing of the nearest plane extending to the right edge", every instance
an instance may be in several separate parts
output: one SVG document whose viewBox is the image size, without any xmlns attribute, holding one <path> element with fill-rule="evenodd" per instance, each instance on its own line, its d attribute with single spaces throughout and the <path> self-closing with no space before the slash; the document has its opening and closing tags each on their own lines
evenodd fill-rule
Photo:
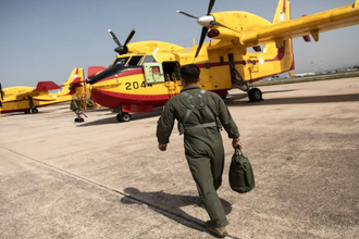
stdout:
<svg viewBox="0 0 359 239">
<path fill-rule="evenodd" d="M 359 24 L 359 0 L 350 5 L 251 29 L 244 33 L 239 39 L 247 48 L 273 41 L 281 45 L 283 40 L 308 35 L 318 41 L 320 33 L 357 24 Z"/>
</svg>

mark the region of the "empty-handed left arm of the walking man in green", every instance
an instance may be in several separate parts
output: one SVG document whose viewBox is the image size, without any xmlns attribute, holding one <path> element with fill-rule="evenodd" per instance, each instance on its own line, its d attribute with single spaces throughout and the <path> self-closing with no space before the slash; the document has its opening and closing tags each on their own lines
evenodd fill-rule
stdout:
<svg viewBox="0 0 359 239">
<path fill-rule="evenodd" d="M 157 124 L 156 136 L 159 142 L 159 149 L 161 151 L 165 151 L 166 144 L 170 142 L 170 136 L 174 126 L 174 120 L 175 116 L 173 105 L 170 101 L 168 101 Z"/>
</svg>

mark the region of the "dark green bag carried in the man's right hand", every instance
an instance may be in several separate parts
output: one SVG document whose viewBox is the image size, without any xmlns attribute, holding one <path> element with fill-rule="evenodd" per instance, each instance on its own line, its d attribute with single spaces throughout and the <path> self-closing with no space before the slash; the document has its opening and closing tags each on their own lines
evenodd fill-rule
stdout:
<svg viewBox="0 0 359 239">
<path fill-rule="evenodd" d="M 246 193 L 256 186 L 249 160 L 236 148 L 230 167 L 230 185 L 233 191 Z"/>
</svg>

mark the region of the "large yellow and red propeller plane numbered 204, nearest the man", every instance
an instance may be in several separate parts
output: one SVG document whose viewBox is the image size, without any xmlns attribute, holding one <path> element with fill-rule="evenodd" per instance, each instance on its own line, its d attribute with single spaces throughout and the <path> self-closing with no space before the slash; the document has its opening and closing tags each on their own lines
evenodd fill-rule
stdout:
<svg viewBox="0 0 359 239">
<path fill-rule="evenodd" d="M 177 11 L 202 26 L 199 45 L 191 48 L 162 41 L 129 43 L 135 30 L 122 46 L 109 30 L 119 55 L 108 68 L 88 68 L 91 99 L 117 110 L 119 122 L 129 121 L 128 113 L 151 112 L 180 93 L 178 68 L 194 63 L 201 70 L 202 89 L 225 98 L 227 90 L 239 88 L 248 92 L 250 101 L 260 101 L 260 89 L 249 84 L 295 68 L 292 38 L 310 41 L 311 36 L 318 41 L 322 32 L 359 24 L 359 0 L 296 20 L 290 20 L 290 2 L 278 0 L 272 23 L 242 11 L 211 13 L 213 4 L 211 0 L 201 17 Z M 206 36 L 212 40 L 205 43 Z M 247 52 L 248 48 L 256 52 Z"/>
</svg>

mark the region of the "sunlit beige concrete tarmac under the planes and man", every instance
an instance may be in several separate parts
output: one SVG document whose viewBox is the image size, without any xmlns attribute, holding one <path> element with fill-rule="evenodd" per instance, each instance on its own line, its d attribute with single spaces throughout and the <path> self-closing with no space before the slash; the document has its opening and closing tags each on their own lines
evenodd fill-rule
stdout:
<svg viewBox="0 0 359 239">
<path fill-rule="evenodd" d="M 251 192 L 231 190 L 222 131 L 228 238 L 359 238 L 359 78 L 261 90 L 225 100 L 256 176 Z M 157 148 L 161 109 L 81 124 L 69 105 L 39 111 L 0 116 L 0 238 L 213 238 L 176 127 Z"/>
</svg>

